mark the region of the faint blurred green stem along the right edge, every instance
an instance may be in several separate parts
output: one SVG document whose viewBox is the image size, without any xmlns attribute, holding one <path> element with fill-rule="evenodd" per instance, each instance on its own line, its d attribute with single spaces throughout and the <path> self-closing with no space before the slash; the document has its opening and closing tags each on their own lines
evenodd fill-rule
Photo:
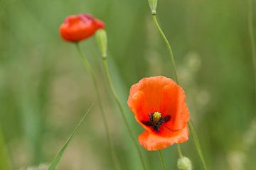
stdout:
<svg viewBox="0 0 256 170">
<path fill-rule="evenodd" d="M 252 48 L 252 66 L 254 69 L 254 83 L 255 83 L 255 113 L 256 113 L 256 49 L 255 49 L 255 37 L 253 33 L 253 8 L 252 8 L 252 0 L 248 1 L 249 10 L 248 10 L 248 29 L 249 36 Z"/>
</svg>

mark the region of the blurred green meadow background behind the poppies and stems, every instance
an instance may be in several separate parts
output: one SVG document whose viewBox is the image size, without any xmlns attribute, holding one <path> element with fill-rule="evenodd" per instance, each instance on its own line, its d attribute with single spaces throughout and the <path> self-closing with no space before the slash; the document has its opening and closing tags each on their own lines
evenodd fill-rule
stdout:
<svg viewBox="0 0 256 170">
<path fill-rule="evenodd" d="M 173 47 L 209 169 L 256 168 L 247 12 L 247 1 L 241 0 L 159 1 L 159 21 Z M 114 87 L 135 135 L 143 129 L 127 107 L 129 87 L 143 77 L 173 76 L 147 0 L 0 0 L 1 170 L 7 169 L 6 159 L 13 169 L 51 162 L 96 102 L 75 45 L 58 33 L 65 17 L 75 13 L 92 13 L 106 23 Z M 106 88 L 95 37 L 82 42 L 82 50 L 97 75 L 122 169 L 140 169 L 137 152 Z M 113 169 L 100 115 L 96 102 L 58 169 Z M 192 140 L 181 147 L 194 169 L 201 169 Z M 158 152 L 141 149 L 146 166 L 161 169 Z M 163 152 L 168 169 L 176 169 L 176 146 Z"/>
</svg>

